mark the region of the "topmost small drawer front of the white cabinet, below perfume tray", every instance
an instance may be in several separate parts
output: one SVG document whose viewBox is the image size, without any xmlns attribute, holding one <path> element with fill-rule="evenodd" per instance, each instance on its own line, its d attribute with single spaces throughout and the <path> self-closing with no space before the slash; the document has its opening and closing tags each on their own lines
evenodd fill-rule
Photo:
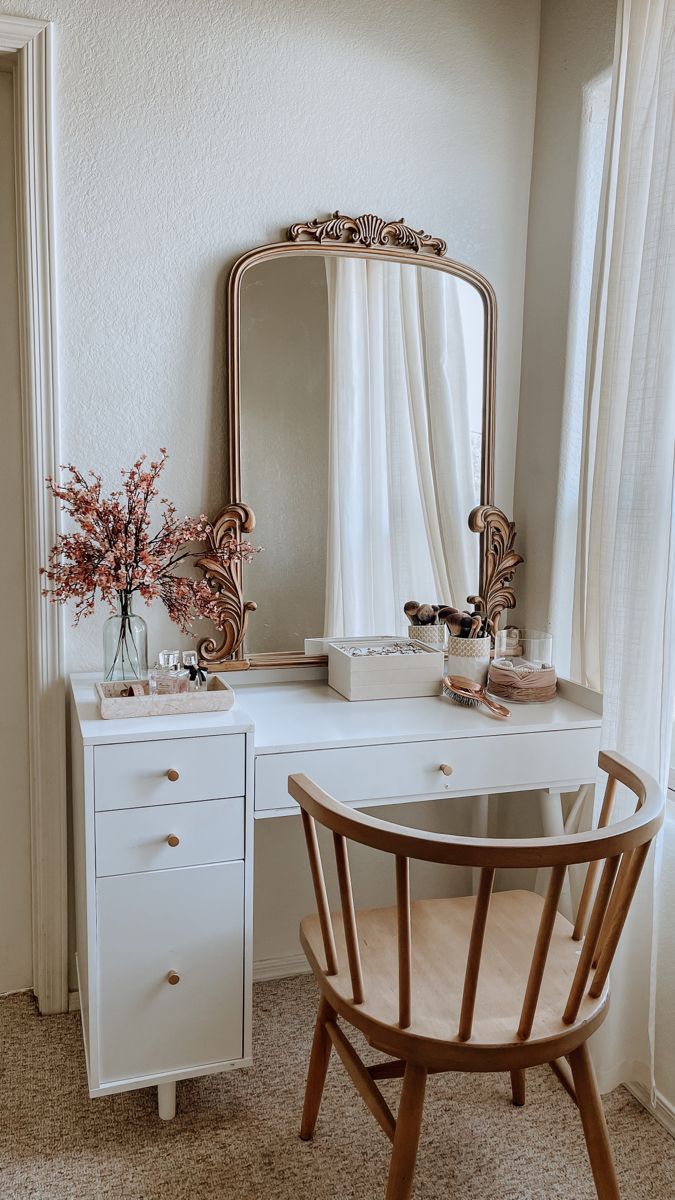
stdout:
<svg viewBox="0 0 675 1200">
<path fill-rule="evenodd" d="M 95 806 L 133 809 L 243 796 L 244 742 L 243 733 L 233 733 L 96 746 Z"/>
</svg>

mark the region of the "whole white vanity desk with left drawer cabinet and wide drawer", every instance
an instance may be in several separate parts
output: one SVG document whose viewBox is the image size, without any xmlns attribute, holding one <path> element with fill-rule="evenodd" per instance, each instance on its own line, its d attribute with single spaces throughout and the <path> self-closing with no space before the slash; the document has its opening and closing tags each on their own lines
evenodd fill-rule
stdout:
<svg viewBox="0 0 675 1200">
<path fill-rule="evenodd" d="M 119 721 L 100 719 L 95 677 L 72 679 L 91 1096 L 156 1085 L 171 1117 L 177 1080 L 250 1063 L 252 818 L 298 811 L 289 774 L 369 806 L 543 790 L 546 833 L 560 793 L 596 776 L 599 697 L 575 685 L 500 721 L 441 697 L 353 703 L 321 668 L 280 674 L 229 674 L 228 713 Z"/>
</svg>

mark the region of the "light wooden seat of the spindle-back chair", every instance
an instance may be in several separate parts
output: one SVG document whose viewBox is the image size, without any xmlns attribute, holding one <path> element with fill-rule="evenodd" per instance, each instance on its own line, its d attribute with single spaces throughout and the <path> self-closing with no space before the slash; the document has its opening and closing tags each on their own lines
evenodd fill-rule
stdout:
<svg viewBox="0 0 675 1200">
<path fill-rule="evenodd" d="M 525 1049 L 516 1038 L 525 982 L 537 938 L 543 900 L 532 892 L 496 892 L 490 902 L 478 978 L 473 1031 L 468 1043 L 458 1038 L 458 1026 L 473 919 L 473 896 L 417 900 L 412 918 L 412 1024 L 398 1025 L 398 926 L 396 907 L 360 910 L 358 913 L 364 996 L 354 1004 L 347 966 L 342 918 L 333 914 L 339 973 L 325 974 L 325 958 L 317 916 L 305 917 L 300 940 L 322 990 L 336 1010 L 362 1028 L 372 1045 L 388 1054 L 410 1052 L 418 1043 L 419 1056 L 429 1062 L 456 1060 L 466 1051 L 477 1061 L 480 1050 Z M 578 1044 L 589 1036 L 589 1024 L 604 1015 L 608 989 L 593 1000 L 587 994 L 579 1016 L 565 1025 L 561 1014 L 574 978 L 583 943 L 572 938 L 573 926 L 556 917 L 550 953 L 542 983 L 532 1036 L 526 1043 L 531 1061 L 557 1057 L 556 1040 Z M 574 1034 L 578 1034 L 574 1037 Z M 537 1054 L 539 1046 L 539 1054 Z M 450 1051 L 448 1054 L 448 1051 Z M 551 1052 L 550 1052 L 551 1051 Z M 567 1052 L 565 1048 L 560 1052 Z M 474 1066 L 473 1069 L 480 1069 Z M 488 1068 L 486 1068 L 488 1069 Z M 494 1069 L 494 1067 L 492 1067 Z"/>
</svg>

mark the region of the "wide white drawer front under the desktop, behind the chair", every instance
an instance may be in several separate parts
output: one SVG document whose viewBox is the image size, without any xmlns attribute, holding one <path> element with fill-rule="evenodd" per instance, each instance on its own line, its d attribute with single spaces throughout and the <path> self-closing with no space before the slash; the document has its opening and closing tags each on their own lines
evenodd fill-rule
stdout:
<svg viewBox="0 0 675 1200">
<path fill-rule="evenodd" d="M 346 804 L 574 787 L 595 779 L 598 745 L 599 730 L 591 728 L 258 755 L 256 810 L 297 809 L 288 796 L 288 775 L 295 773 Z M 443 774 L 442 764 L 452 774 Z"/>
</svg>

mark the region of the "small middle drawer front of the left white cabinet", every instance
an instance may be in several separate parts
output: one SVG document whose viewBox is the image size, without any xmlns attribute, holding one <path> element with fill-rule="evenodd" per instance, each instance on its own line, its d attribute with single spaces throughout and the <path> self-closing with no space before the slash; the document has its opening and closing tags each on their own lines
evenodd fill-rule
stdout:
<svg viewBox="0 0 675 1200">
<path fill-rule="evenodd" d="M 244 858 L 244 797 L 96 814 L 96 875 Z"/>
</svg>

